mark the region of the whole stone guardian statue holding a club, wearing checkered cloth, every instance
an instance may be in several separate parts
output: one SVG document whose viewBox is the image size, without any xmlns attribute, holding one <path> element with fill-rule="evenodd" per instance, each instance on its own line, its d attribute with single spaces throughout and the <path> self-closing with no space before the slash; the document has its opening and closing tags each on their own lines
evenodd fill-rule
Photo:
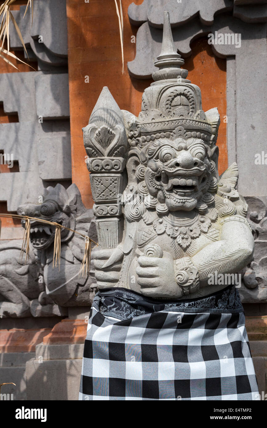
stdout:
<svg viewBox="0 0 267 428">
<path fill-rule="evenodd" d="M 104 88 L 84 128 L 99 292 L 81 399 L 258 393 L 232 280 L 253 255 L 248 207 L 237 164 L 218 175 L 219 113 L 202 110 L 183 63 L 165 12 L 159 70 L 139 116 L 120 110 Z"/>
</svg>

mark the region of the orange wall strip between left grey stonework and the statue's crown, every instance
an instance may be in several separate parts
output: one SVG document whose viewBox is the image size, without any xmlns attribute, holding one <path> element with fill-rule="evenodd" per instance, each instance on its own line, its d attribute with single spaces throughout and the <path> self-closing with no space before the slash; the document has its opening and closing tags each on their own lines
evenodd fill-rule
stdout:
<svg viewBox="0 0 267 428">
<path fill-rule="evenodd" d="M 122 75 L 119 22 L 114 0 L 67 0 L 70 130 L 72 142 L 72 182 L 81 191 L 84 204 L 92 207 L 89 173 L 84 156 L 81 128 L 86 126 L 103 88 L 108 86 L 121 109 L 138 114 L 142 92 L 149 83 L 129 77 L 127 61 L 135 57 L 135 44 L 127 9 L 131 0 L 123 0 L 124 61 Z M 138 0 L 141 4 L 142 0 Z M 84 83 L 85 76 L 90 82 Z"/>
</svg>

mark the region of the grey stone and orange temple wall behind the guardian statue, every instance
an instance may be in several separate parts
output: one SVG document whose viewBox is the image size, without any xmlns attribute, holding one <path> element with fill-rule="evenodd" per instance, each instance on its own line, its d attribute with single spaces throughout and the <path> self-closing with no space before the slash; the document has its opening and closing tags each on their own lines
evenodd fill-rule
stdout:
<svg viewBox="0 0 267 428">
<path fill-rule="evenodd" d="M 87 125 L 103 86 L 109 87 L 121 109 L 138 115 L 142 92 L 149 85 L 153 60 L 161 48 L 163 11 L 168 10 L 174 43 L 186 61 L 189 79 L 190 73 L 194 74 L 192 81 L 201 86 L 203 99 L 210 101 L 206 110 L 219 105 L 216 99 L 224 101 L 219 109 L 222 121 L 219 161 L 223 169 L 237 162 L 238 190 L 249 204 L 248 221 L 255 237 L 255 256 L 254 262 L 242 272 L 240 294 L 259 389 L 266 391 L 267 1 L 130 3 L 123 1 L 127 63 L 123 75 L 113 0 L 90 3 L 35 0 L 33 27 L 29 13 L 22 20 L 25 6 L 14 11 L 31 63 L 38 64 L 38 69 L 26 71 L 26 66 L 21 66 L 21 73 L 7 70 L 0 75 L 0 103 L 3 102 L 4 113 L 9 117 L 18 115 L 18 122 L 9 121 L 0 126 L 0 151 L 13 153 L 18 161 L 16 172 L 2 173 L 0 169 L 0 201 L 6 201 L 7 211 L 15 212 L 27 201 L 38 203 L 43 188 L 58 183 L 68 188 L 75 183 L 85 207 L 92 208 L 81 128 Z M 208 34 L 216 31 L 241 34 L 240 47 L 208 45 Z M 13 30 L 11 48 L 15 53 L 21 51 Z M 213 67 L 212 78 L 202 75 L 205 66 Z M 261 155 L 261 163 L 255 163 L 256 154 Z M 12 227 L 2 228 L 0 250 L 11 241 L 14 246 L 15 240 L 19 248 L 23 229 L 12 222 L 4 224 Z M 90 220 L 89 226 L 93 233 Z M 3 285 L 0 276 L 0 293 Z M 88 288 L 88 293 L 92 290 Z M 44 306 L 50 310 L 46 316 L 37 311 L 38 316 L 0 318 L 0 383 L 16 383 L 1 392 L 13 393 L 17 400 L 78 398 L 90 299 L 91 294 L 87 306 L 86 302 L 83 306 L 60 306 L 59 311 L 51 309 L 51 302 L 45 302 Z"/>
</svg>

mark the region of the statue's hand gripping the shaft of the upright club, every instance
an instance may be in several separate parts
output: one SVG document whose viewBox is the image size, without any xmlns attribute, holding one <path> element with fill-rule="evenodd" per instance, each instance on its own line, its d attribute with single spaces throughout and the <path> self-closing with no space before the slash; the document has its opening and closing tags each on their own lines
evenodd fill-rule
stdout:
<svg viewBox="0 0 267 428">
<path fill-rule="evenodd" d="M 116 249 L 111 249 L 111 250 L 94 249 L 92 251 L 91 256 L 94 261 L 95 277 L 96 277 L 96 282 L 99 289 L 115 287 L 116 283 L 119 280 L 120 269 L 121 269 L 121 259 L 123 258 L 123 253 L 119 261 L 115 261 L 114 263 L 108 262 L 108 259 L 111 258 L 111 256 L 112 257 L 114 256 L 115 251 Z M 118 256 L 115 257 L 115 259 L 117 260 Z M 107 264 L 108 266 L 103 268 L 105 264 Z"/>
</svg>

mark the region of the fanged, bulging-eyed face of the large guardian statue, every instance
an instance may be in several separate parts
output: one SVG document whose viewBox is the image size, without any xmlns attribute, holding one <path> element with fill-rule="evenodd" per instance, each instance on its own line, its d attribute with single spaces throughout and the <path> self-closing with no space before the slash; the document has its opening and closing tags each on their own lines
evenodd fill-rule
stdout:
<svg viewBox="0 0 267 428">
<path fill-rule="evenodd" d="M 201 139 L 157 140 L 147 153 L 145 183 L 169 211 L 191 211 L 211 180 L 210 149 Z"/>
</svg>

